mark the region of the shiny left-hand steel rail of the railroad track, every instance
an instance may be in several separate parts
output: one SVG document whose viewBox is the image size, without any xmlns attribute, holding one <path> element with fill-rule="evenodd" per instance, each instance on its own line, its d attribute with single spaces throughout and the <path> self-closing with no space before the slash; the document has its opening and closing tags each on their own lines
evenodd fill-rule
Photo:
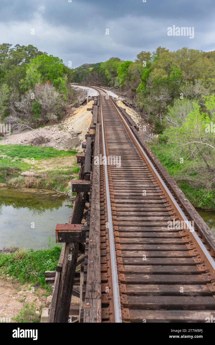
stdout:
<svg viewBox="0 0 215 345">
<path fill-rule="evenodd" d="M 102 142 L 103 142 L 104 156 L 106 157 L 105 132 L 104 132 L 104 122 L 103 122 L 103 112 L 102 112 L 101 100 L 100 100 L 100 107 L 101 107 Z M 116 262 L 116 252 L 115 252 L 115 242 L 114 242 L 114 229 L 113 229 L 111 204 L 110 204 L 110 192 L 109 192 L 109 183 L 108 183 L 107 164 L 105 164 L 104 166 L 105 166 L 105 186 L 106 186 L 108 229 L 109 229 L 109 240 L 110 240 L 110 258 L 111 258 L 112 284 L 113 284 L 113 295 L 114 295 L 115 322 L 121 323 L 122 322 L 121 304 L 120 304 L 120 295 L 119 295 L 119 282 L 118 282 L 118 273 L 117 273 L 117 262 Z"/>
</svg>

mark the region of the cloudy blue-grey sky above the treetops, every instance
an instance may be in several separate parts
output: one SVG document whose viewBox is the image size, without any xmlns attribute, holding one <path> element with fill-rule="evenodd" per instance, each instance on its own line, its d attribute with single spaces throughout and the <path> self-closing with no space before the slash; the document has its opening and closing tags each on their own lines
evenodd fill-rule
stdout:
<svg viewBox="0 0 215 345">
<path fill-rule="evenodd" d="M 1 43 L 33 44 L 73 68 L 113 56 L 134 60 L 158 46 L 215 50 L 214 0 L 0 0 L 0 6 Z M 194 38 L 168 36 L 173 25 L 194 27 Z"/>
</svg>

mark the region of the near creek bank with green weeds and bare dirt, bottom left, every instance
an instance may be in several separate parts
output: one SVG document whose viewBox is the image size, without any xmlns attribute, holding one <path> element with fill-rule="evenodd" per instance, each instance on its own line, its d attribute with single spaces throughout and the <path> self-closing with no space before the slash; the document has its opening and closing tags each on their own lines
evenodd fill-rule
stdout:
<svg viewBox="0 0 215 345">
<path fill-rule="evenodd" d="M 61 247 L 0 251 L 0 317 L 8 322 L 40 322 L 51 293 L 45 271 L 56 270 Z"/>
</svg>

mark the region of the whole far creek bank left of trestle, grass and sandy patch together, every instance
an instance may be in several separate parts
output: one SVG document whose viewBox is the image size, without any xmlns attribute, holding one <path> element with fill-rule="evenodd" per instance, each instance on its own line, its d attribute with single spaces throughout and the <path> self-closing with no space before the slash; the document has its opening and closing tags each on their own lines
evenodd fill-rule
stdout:
<svg viewBox="0 0 215 345">
<path fill-rule="evenodd" d="M 12 187 L 70 189 L 77 177 L 76 150 L 32 145 L 0 146 L 0 183 Z"/>
</svg>

